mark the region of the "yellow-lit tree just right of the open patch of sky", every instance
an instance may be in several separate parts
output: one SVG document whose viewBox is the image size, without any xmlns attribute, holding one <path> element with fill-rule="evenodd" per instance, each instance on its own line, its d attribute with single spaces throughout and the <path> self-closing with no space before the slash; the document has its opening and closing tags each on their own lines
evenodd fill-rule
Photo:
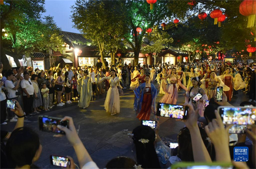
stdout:
<svg viewBox="0 0 256 169">
<path fill-rule="evenodd" d="M 127 33 L 123 1 L 84 1 L 76 0 L 72 6 L 72 21 L 86 39 L 99 48 L 102 61 L 104 51 L 110 51 L 112 64 L 119 43 Z M 86 19 L 85 19 L 86 18 Z M 105 62 L 104 68 L 105 68 Z"/>
</svg>

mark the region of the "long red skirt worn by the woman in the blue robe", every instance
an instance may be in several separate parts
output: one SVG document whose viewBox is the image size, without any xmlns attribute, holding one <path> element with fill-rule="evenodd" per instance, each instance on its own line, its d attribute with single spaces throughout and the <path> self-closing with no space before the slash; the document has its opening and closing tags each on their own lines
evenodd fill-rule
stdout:
<svg viewBox="0 0 256 169">
<path fill-rule="evenodd" d="M 143 95 L 143 101 L 141 105 L 140 113 L 137 115 L 137 118 L 140 120 L 149 120 L 150 114 L 151 114 L 151 87 L 145 87 L 144 88 L 144 95 Z"/>
</svg>

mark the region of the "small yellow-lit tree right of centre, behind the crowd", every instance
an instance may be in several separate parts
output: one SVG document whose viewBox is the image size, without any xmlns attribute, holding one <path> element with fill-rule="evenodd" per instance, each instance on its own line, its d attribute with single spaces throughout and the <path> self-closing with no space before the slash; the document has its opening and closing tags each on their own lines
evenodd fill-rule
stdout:
<svg viewBox="0 0 256 169">
<path fill-rule="evenodd" d="M 169 37 L 166 32 L 159 32 L 157 27 L 154 27 L 150 36 L 148 36 L 150 44 L 141 48 L 143 54 L 152 53 L 154 57 L 154 65 L 157 64 L 157 56 L 162 51 L 162 49 L 168 47 L 169 43 L 173 42 L 173 39 Z"/>
</svg>

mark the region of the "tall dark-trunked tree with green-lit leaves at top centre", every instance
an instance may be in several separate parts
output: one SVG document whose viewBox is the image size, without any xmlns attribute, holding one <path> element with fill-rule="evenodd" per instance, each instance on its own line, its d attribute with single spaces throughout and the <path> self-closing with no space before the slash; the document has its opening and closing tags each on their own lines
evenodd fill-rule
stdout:
<svg viewBox="0 0 256 169">
<path fill-rule="evenodd" d="M 125 39 L 134 50 L 135 65 L 139 63 L 140 48 L 146 28 L 160 25 L 169 12 L 166 8 L 168 3 L 168 0 L 157 1 L 154 4 L 154 9 L 150 10 L 150 5 L 145 0 L 126 0 L 126 14 L 131 32 L 125 35 Z M 137 34 L 137 27 L 142 28 L 139 34 Z"/>
</svg>

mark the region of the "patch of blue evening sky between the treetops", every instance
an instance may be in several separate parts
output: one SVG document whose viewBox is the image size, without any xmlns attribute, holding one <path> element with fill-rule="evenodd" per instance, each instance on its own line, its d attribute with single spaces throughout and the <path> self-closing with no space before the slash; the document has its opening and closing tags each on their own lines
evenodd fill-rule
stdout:
<svg viewBox="0 0 256 169">
<path fill-rule="evenodd" d="M 46 12 L 43 16 L 52 16 L 53 20 L 62 31 L 79 33 L 73 28 L 73 22 L 70 19 L 71 6 L 75 4 L 75 0 L 45 0 Z"/>
</svg>

